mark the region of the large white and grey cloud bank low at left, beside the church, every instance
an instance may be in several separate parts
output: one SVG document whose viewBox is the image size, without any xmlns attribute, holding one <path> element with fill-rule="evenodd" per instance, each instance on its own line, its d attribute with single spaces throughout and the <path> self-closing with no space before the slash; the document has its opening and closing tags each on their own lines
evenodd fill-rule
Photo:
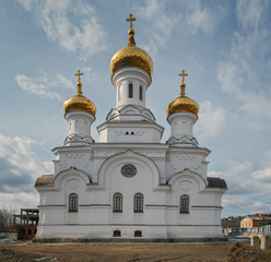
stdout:
<svg viewBox="0 0 271 262">
<path fill-rule="evenodd" d="M 52 163 L 38 159 L 34 140 L 11 138 L 0 133 L 0 205 L 33 207 L 37 204 L 34 182 L 44 174 L 52 174 Z"/>
</svg>

